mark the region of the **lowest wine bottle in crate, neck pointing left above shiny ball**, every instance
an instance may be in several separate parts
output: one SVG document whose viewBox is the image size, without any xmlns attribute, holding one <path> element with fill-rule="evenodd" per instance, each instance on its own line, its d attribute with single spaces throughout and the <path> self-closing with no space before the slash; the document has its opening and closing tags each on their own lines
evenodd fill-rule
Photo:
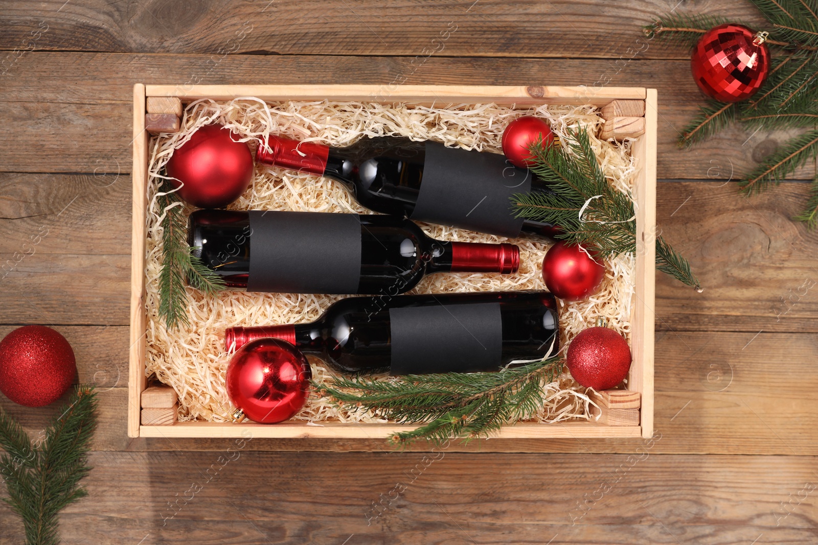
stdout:
<svg viewBox="0 0 818 545">
<path fill-rule="evenodd" d="M 225 346 L 278 337 L 342 373 L 472 373 L 554 354 L 557 320 L 547 292 L 349 297 L 312 324 L 229 328 Z"/>
</svg>

